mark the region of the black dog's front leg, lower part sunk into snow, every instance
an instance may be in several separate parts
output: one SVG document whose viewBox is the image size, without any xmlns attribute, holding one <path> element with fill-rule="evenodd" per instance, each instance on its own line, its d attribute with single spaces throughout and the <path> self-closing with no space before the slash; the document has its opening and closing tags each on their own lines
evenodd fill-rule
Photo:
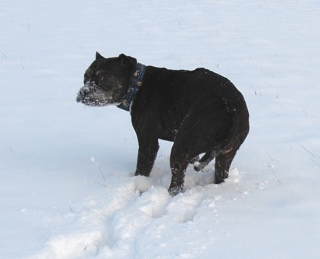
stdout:
<svg viewBox="0 0 320 259">
<path fill-rule="evenodd" d="M 137 169 L 135 171 L 135 175 L 143 175 L 147 177 L 150 175 L 157 157 L 158 150 L 158 139 L 153 141 L 139 141 Z"/>
</svg>

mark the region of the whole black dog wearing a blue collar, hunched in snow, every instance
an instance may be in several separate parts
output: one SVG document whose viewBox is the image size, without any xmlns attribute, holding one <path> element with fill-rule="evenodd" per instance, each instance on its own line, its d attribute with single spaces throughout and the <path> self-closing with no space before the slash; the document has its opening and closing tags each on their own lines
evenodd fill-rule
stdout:
<svg viewBox="0 0 320 259">
<path fill-rule="evenodd" d="M 159 139 L 172 141 L 171 195 L 183 191 L 190 163 L 200 171 L 215 158 L 215 183 L 223 182 L 249 133 L 242 94 L 228 79 L 204 68 L 169 70 L 145 66 L 124 54 L 103 58 L 96 53 L 77 102 L 115 104 L 130 111 L 139 143 L 135 175 L 150 175 Z"/>
</svg>

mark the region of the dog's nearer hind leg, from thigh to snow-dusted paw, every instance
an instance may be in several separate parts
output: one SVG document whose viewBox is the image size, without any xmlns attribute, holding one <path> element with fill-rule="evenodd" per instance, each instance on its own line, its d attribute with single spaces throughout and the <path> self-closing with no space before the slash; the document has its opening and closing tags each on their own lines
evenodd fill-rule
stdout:
<svg viewBox="0 0 320 259">
<path fill-rule="evenodd" d="M 229 128 L 226 114 L 211 112 L 210 116 L 207 116 L 207 111 L 200 108 L 197 106 L 185 117 L 171 148 L 172 178 L 169 193 L 172 196 L 183 191 L 186 169 L 195 157 L 206 152 L 199 162 L 195 162 L 200 164 L 196 165 L 196 168 L 201 170 L 214 157 L 219 156 L 225 147 L 225 129 Z"/>
</svg>

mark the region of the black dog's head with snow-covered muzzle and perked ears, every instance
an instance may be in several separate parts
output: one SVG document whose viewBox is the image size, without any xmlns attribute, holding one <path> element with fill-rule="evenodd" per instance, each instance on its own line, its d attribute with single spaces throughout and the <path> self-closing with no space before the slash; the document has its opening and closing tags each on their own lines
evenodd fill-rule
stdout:
<svg viewBox="0 0 320 259">
<path fill-rule="evenodd" d="M 124 54 L 118 58 L 103 58 L 96 53 L 96 60 L 84 75 L 84 86 L 78 92 L 77 102 L 88 106 L 121 103 L 136 66 L 137 60 Z"/>
</svg>

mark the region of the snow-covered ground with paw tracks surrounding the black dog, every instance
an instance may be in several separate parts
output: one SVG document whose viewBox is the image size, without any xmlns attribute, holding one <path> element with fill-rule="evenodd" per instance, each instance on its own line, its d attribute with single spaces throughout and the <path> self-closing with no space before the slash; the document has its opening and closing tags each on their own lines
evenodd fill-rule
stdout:
<svg viewBox="0 0 320 259">
<path fill-rule="evenodd" d="M 319 17 L 317 0 L 0 1 L 0 258 L 319 258 Z M 96 51 L 229 78 L 251 131 L 228 180 L 190 168 L 170 197 L 168 142 L 130 177 L 129 114 L 75 101 Z"/>
</svg>

